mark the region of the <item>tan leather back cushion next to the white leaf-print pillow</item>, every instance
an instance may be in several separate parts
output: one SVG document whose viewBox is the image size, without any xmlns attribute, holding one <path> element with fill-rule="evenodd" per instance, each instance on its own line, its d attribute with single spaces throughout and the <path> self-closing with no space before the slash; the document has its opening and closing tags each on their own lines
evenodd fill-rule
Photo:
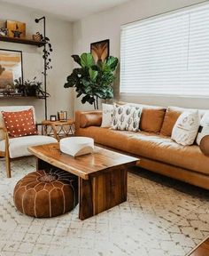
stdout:
<svg viewBox="0 0 209 256">
<path fill-rule="evenodd" d="M 144 132 L 160 132 L 166 108 L 143 108 L 139 128 Z"/>
</svg>

